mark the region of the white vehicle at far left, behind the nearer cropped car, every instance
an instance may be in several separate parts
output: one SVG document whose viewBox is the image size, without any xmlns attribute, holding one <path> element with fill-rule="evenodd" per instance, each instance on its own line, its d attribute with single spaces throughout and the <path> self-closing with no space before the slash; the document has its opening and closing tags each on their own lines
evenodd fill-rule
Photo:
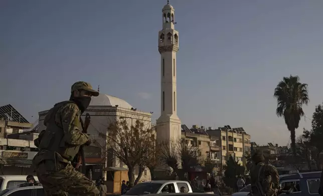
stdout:
<svg viewBox="0 0 323 196">
<path fill-rule="evenodd" d="M 27 175 L 0 175 L 0 190 L 10 187 L 17 187 L 19 184 L 26 183 Z M 37 176 L 34 176 L 38 181 Z"/>
</svg>

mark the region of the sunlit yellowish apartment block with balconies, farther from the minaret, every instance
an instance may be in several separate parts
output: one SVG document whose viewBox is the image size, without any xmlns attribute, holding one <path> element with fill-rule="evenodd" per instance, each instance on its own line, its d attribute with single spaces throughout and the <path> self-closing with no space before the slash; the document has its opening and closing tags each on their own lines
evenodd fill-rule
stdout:
<svg viewBox="0 0 323 196">
<path fill-rule="evenodd" d="M 230 156 L 242 165 L 246 164 L 244 155 L 251 151 L 251 136 L 242 127 L 231 128 L 230 125 L 218 129 L 209 127 L 206 132 L 208 135 L 220 137 L 221 151 L 218 152 L 218 157 L 222 156 L 223 164 L 226 164 Z"/>
</svg>

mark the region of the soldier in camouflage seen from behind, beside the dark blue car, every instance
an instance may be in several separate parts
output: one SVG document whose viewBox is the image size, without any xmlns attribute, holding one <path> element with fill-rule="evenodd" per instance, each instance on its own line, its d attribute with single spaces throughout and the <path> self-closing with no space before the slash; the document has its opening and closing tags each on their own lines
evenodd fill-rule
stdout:
<svg viewBox="0 0 323 196">
<path fill-rule="evenodd" d="M 277 195 L 280 188 L 278 171 L 273 165 L 265 164 L 264 160 L 262 152 L 252 155 L 251 193 L 256 196 Z"/>
</svg>

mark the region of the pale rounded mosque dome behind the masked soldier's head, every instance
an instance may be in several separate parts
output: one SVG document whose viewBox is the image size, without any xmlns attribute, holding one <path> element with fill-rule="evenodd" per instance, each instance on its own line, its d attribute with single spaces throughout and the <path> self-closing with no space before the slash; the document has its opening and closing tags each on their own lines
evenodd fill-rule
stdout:
<svg viewBox="0 0 323 196">
<path fill-rule="evenodd" d="M 118 97 L 111 96 L 108 94 L 99 94 L 98 96 L 92 96 L 90 106 L 115 106 L 131 109 L 131 105 Z"/>
</svg>

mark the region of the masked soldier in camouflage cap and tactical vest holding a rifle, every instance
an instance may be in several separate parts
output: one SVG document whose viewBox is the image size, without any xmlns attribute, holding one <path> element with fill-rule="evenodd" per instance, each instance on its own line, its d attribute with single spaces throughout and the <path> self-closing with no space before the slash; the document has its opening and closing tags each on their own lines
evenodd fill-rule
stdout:
<svg viewBox="0 0 323 196">
<path fill-rule="evenodd" d="M 70 100 L 56 103 L 47 113 L 46 129 L 34 141 L 40 150 L 33 159 L 47 196 L 100 194 L 96 185 L 71 164 L 80 146 L 91 143 L 81 131 L 80 116 L 89 106 L 91 96 L 98 95 L 91 84 L 78 81 L 72 85 Z"/>
</svg>

